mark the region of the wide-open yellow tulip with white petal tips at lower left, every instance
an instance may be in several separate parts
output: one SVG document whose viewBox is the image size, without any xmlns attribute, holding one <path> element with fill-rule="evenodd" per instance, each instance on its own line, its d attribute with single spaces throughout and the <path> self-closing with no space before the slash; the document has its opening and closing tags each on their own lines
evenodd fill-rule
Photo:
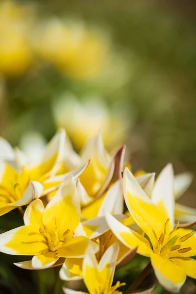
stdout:
<svg viewBox="0 0 196 294">
<path fill-rule="evenodd" d="M 25 225 L 0 235 L 0 251 L 12 255 L 34 255 L 17 264 L 25 269 L 45 269 L 60 257 L 81 258 L 91 244 L 98 245 L 80 229 L 80 204 L 73 177 L 69 177 L 47 204 L 32 201 L 24 214 Z"/>
</svg>

